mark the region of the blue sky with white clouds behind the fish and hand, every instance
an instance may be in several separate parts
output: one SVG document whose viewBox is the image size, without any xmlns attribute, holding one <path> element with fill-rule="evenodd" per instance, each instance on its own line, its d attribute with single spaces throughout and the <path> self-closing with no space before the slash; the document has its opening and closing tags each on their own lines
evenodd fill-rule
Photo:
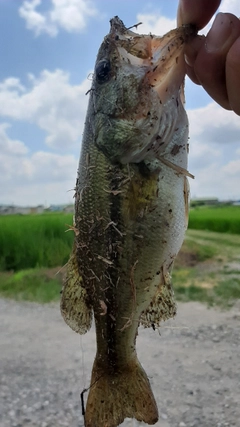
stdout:
<svg viewBox="0 0 240 427">
<path fill-rule="evenodd" d="M 0 0 L 0 204 L 73 202 L 85 93 L 110 18 L 161 35 L 175 27 L 177 5 Z M 223 0 L 221 10 L 238 16 L 238 0 Z M 240 199 L 240 117 L 188 79 L 186 101 L 192 196 Z"/>
</svg>

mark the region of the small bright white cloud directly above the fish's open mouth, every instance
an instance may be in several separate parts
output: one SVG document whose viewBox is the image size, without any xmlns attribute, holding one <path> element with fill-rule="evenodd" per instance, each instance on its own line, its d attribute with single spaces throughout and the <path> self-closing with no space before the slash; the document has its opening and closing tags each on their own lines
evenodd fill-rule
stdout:
<svg viewBox="0 0 240 427">
<path fill-rule="evenodd" d="M 141 34 L 154 34 L 163 36 L 168 31 L 176 27 L 176 20 L 169 19 L 165 16 L 159 15 L 159 13 L 139 13 L 137 15 L 137 21 L 142 22 L 142 25 L 138 27 L 138 32 Z"/>
</svg>

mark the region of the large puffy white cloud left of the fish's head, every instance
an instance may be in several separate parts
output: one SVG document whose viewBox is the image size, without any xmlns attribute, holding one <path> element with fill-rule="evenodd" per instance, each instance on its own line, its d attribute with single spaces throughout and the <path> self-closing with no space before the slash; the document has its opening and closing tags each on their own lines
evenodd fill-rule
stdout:
<svg viewBox="0 0 240 427">
<path fill-rule="evenodd" d="M 90 81 L 69 83 L 69 74 L 61 70 L 43 71 L 39 78 L 29 75 L 30 88 L 19 79 L 0 83 L 0 116 L 30 121 L 47 132 L 51 148 L 68 148 L 83 131 Z"/>
</svg>

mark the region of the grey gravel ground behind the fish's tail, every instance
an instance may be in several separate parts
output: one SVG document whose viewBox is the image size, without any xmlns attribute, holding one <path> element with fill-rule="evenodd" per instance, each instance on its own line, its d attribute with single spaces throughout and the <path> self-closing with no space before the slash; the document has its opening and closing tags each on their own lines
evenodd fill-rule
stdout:
<svg viewBox="0 0 240 427">
<path fill-rule="evenodd" d="M 157 426 L 240 426 L 239 309 L 179 304 L 161 336 L 140 329 L 138 356 L 158 403 Z M 82 427 L 94 331 L 72 332 L 57 305 L 7 300 L 0 300 L 0 324 L 0 426 Z"/>
</svg>

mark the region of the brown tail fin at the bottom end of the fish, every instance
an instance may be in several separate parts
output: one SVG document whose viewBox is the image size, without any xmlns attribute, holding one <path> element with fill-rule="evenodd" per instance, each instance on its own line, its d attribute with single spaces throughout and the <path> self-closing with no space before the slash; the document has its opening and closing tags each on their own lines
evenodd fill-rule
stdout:
<svg viewBox="0 0 240 427">
<path fill-rule="evenodd" d="M 148 377 L 135 358 L 117 372 L 103 371 L 93 365 L 85 413 L 86 427 L 116 427 L 125 418 L 147 424 L 158 420 L 157 405 Z"/>
</svg>

